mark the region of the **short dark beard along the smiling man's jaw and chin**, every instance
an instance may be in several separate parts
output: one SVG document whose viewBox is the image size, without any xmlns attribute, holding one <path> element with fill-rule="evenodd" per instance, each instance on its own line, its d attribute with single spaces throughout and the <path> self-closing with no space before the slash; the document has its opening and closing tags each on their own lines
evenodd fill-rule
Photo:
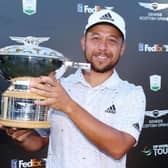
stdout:
<svg viewBox="0 0 168 168">
<path fill-rule="evenodd" d="M 115 68 L 115 66 L 118 64 L 120 57 L 118 57 L 118 59 L 115 62 L 110 62 L 108 65 L 100 68 L 98 65 L 94 64 L 94 62 L 92 60 L 89 60 L 86 56 L 85 53 L 85 59 L 87 63 L 90 63 L 91 65 L 91 70 L 97 72 L 97 73 L 106 73 L 109 71 L 113 71 L 113 69 Z"/>
</svg>

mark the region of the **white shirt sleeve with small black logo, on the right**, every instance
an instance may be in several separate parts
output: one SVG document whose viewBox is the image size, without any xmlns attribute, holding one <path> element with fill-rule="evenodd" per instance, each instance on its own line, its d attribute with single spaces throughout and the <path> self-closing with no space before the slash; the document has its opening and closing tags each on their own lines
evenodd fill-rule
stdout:
<svg viewBox="0 0 168 168">
<path fill-rule="evenodd" d="M 138 142 L 142 126 L 144 123 L 146 97 L 142 87 L 132 89 L 122 101 L 120 111 L 120 121 L 117 128 L 133 136 Z"/>
</svg>

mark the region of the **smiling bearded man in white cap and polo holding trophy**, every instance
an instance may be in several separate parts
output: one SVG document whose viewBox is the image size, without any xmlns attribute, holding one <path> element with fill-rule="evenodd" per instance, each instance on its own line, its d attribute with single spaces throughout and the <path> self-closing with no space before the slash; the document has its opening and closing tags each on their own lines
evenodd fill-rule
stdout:
<svg viewBox="0 0 168 168">
<path fill-rule="evenodd" d="M 145 111 L 142 87 L 121 80 L 114 69 L 125 39 L 120 15 L 107 9 L 93 13 L 81 39 L 91 71 L 78 70 L 60 81 L 46 76 L 31 81 L 31 92 L 46 97 L 35 103 L 51 109 L 49 137 L 45 130 L 17 129 L 11 137 L 28 151 L 49 143 L 48 168 L 125 168 Z"/>
</svg>

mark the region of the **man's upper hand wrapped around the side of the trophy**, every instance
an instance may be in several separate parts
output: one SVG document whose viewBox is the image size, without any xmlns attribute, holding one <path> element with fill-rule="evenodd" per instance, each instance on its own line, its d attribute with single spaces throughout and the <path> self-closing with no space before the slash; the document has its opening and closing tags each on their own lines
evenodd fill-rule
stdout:
<svg viewBox="0 0 168 168">
<path fill-rule="evenodd" d="M 60 84 L 60 81 L 52 77 L 41 76 L 40 78 L 32 78 L 30 81 L 30 91 L 46 98 L 35 101 L 35 104 L 47 105 L 65 113 L 70 111 L 70 107 L 74 103 Z"/>
</svg>

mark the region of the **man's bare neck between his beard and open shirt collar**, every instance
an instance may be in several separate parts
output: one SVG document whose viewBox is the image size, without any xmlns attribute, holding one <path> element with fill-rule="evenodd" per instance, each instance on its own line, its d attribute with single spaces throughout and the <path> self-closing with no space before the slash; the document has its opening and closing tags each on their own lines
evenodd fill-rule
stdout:
<svg viewBox="0 0 168 168">
<path fill-rule="evenodd" d="M 113 73 L 112 71 L 99 73 L 91 70 L 90 72 L 84 71 L 83 75 L 85 80 L 92 86 L 95 87 L 97 85 L 102 84 L 105 80 L 107 80 Z"/>
</svg>

